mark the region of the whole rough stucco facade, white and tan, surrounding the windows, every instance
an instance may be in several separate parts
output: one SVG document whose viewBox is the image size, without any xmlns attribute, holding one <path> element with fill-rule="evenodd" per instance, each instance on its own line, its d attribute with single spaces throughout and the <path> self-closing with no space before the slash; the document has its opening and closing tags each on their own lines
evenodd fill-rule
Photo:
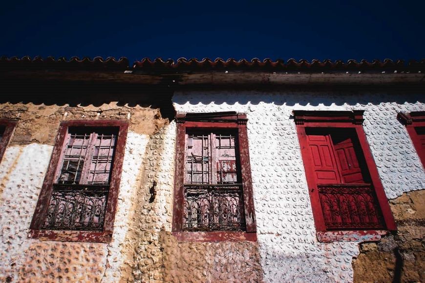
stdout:
<svg viewBox="0 0 425 283">
<path fill-rule="evenodd" d="M 359 242 L 317 241 L 291 112 L 365 110 L 371 152 L 387 197 L 395 199 L 425 184 L 415 149 L 396 120 L 398 111 L 425 110 L 418 102 L 422 96 L 401 97 L 223 91 L 174 95 L 177 111 L 247 113 L 256 243 L 179 243 L 171 235 L 176 129 L 157 109 L 113 102 L 75 107 L 2 104 L 0 119 L 19 122 L 0 163 L 0 281 L 350 282 Z M 112 242 L 28 239 L 59 122 L 128 116 Z M 153 181 L 157 194 L 149 202 Z"/>
</svg>

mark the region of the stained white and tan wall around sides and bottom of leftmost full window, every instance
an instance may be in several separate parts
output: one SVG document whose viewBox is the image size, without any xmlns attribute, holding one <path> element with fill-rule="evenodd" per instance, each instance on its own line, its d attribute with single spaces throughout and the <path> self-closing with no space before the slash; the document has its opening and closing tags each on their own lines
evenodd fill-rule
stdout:
<svg viewBox="0 0 425 283">
<path fill-rule="evenodd" d="M 53 150 L 31 143 L 9 146 L 0 163 L 0 281 L 115 282 L 121 277 L 131 196 L 148 135 L 129 132 L 112 243 L 69 243 L 28 238 L 28 228 Z M 69 270 L 69 271 L 68 271 Z M 66 275 L 66 276 L 65 276 Z"/>
</svg>

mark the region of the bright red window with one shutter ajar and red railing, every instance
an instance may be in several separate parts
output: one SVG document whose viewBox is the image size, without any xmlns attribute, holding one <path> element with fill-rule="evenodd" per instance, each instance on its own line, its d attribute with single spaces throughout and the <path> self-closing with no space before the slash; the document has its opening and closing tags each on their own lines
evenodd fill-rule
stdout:
<svg viewBox="0 0 425 283">
<path fill-rule="evenodd" d="M 293 111 L 318 232 L 394 230 L 363 111 Z"/>
</svg>

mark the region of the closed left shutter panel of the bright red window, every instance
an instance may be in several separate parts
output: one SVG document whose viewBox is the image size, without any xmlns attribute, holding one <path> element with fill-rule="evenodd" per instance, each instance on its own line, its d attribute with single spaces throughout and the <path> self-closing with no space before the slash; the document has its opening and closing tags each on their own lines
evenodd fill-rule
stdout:
<svg viewBox="0 0 425 283">
<path fill-rule="evenodd" d="M 316 183 L 340 183 L 338 167 L 329 135 L 307 135 Z"/>
</svg>

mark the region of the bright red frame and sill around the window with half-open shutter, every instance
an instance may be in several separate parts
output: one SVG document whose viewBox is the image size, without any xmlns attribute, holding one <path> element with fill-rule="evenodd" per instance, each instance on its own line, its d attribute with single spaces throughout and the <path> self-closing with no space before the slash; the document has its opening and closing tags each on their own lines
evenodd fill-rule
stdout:
<svg viewBox="0 0 425 283">
<path fill-rule="evenodd" d="M 381 207 L 385 228 L 387 231 L 397 230 L 391 209 L 386 198 L 385 191 L 381 179 L 378 174 L 376 163 L 373 159 L 366 134 L 363 130 L 363 110 L 354 111 L 305 111 L 294 110 L 294 120 L 297 128 L 297 136 L 301 148 L 301 156 L 305 168 L 307 185 L 309 187 L 309 195 L 313 210 L 313 218 L 316 226 L 318 239 L 321 242 L 332 242 L 335 240 L 359 240 L 362 235 L 376 235 L 376 239 L 380 238 L 383 231 L 374 230 L 356 230 L 356 231 L 329 231 L 326 229 L 323 219 L 322 209 L 319 201 L 318 190 L 310 188 L 316 186 L 316 180 L 312 172 L 309 144 L 306 137 L 306 128 L 353 128 L 356 131 L 361 151 L 363 152 L 367 169 L 370 174 L 371 182 L 375 188 L 378 203 Z M 350 236 L 347 236 L 350 235 Z M 373 237 L 372 237 L 373 238 Z M 368 240 L 376 240 L 367 238 Z"/>
</svg>

